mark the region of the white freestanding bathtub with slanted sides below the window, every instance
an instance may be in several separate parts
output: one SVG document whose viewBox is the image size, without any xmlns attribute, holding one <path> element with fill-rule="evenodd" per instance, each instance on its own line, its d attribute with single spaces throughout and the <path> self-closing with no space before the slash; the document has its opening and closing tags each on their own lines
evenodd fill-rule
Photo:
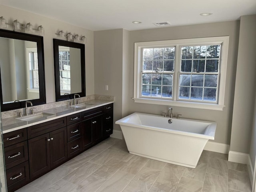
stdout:
<svg viewBox="0 0 256 192">
<path fill-rule="evenodd" d="M 215 122 L 133 113 L 118 121 L 130 154 L 195 168 Z"/>
</svg>

